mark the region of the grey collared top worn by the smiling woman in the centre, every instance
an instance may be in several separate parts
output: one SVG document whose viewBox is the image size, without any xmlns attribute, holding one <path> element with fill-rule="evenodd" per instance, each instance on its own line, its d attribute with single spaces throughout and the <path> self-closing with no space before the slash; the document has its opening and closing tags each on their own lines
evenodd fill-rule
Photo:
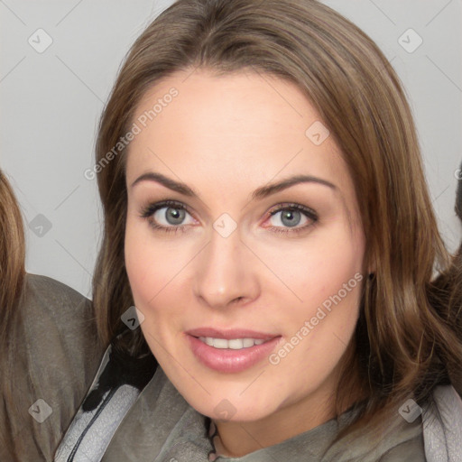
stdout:
<svg viewBox="0 0 462 462">
<path fill-rule="evenodd" d="M 108 355 L 109 350 L 106 352 Z M 104 363 L 104 362 L 103 362 Z M 101 368 L 100 368 L 101 370 Z M 124 387 L 123 387 L 124 388 Z M 78 418 L 63 440 L 57 462 L 207 462 L 213 447 L 208 438 L 208 418 L 195 411 L 178 393 L 159 366 L 143 391 L 125 388 L 106 409 Z M 125 396 L 125 398 L 124 398 Z M 127 406 L 127 402 L 134 402 Z M 415 403 L 414 403 L 415 404 Z M 102 420 L 117 422 L 102 431 L 89 427 L 79 448 L 72 443 L 82 434 L 82 422 L 100 411 Z M 462 460 L 462 400 L 452 386 L 438 386 L 420 409 L 403 403 L 396 416 L 384 422 L 375 441 L 356 437 L 330 446 L 337 431 L 353 417 L 344 412 L 328 422 L 269 448 L 244 457 L 217 457 L 217 462 L 460 462 Z M 97 429 L 97 430 L 95 430 Z M 97 446 L 97 448 L 96 448 Z M 69 458 L 71 452 L 75 458 Z M 97 454 L 97 456 L 94 456 Z"/>
</svg>

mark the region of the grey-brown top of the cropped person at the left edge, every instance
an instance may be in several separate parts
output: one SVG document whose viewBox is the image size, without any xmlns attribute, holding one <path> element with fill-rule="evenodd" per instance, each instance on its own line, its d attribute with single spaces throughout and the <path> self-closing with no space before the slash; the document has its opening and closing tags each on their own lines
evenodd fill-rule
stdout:
<svg viewBox="0 0 462 462">
<path fill-rule="evenodd" d="M 51 461 L 88 392 L 104 349 L 91 302 L 65 284 L 27 274 L 14 326 L 15 409 L 0 406 L 0 431 L 11 426 L 14 455 L 0 461 Z"/>
</svg>

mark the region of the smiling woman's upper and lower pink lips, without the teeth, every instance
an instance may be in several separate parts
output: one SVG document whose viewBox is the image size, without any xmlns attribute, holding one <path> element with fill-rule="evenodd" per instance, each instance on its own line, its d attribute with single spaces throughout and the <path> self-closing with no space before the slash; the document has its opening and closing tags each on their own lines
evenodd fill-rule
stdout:
<svg viewBox="0 0 462 462">
<path fill-rule="evenodd" d="M 247 329 L 218 330 L 216 328 L 196 328 L 185 332 L 193 354 L 203 365 L 222 373 L 238 373 L 267 358 L 279 342 L 281 336 L 265 334 Z M 254 338 L 264 340 L 261 345 L 239 350 L 209 347 L 199 337 Z"/>
</svg>

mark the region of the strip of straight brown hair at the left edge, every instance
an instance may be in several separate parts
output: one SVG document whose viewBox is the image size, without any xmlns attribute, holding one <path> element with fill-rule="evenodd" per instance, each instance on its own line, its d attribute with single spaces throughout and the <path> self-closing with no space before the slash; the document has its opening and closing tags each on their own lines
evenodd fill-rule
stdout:
<svg viewBox="0 0 462 462">
<path fill-rule="evenodd" d="M 14 197 L 14 191 L 0 170 L 0 394 L 5 414 L 14 404 L 12 375 L 13 370 L 9 349 L 16 338 L 15 317 L 18 316 L 18 303 L 23 293 L 25 279 L 25 243 L 23 217 Z M 14 406 L 13 406 L 14 407 Z M 5 426 L 8 420 L 2 422 Z M 0 431 L 0 448 L 13 457 L 13 430 L 3 428 Z"/>
</svg>

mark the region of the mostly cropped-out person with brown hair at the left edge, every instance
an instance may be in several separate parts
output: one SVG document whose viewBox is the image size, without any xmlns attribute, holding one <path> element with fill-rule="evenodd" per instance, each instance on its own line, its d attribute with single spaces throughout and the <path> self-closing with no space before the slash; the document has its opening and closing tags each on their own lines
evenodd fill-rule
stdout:
<svg viewBox="0 0 462 462">
<path fill-rule="evenodd" d="M 0 460 L 51 461 L 103 353 L 91 303 L 25 273 L 20 209 L 0 171 Z"/>
</svg>

